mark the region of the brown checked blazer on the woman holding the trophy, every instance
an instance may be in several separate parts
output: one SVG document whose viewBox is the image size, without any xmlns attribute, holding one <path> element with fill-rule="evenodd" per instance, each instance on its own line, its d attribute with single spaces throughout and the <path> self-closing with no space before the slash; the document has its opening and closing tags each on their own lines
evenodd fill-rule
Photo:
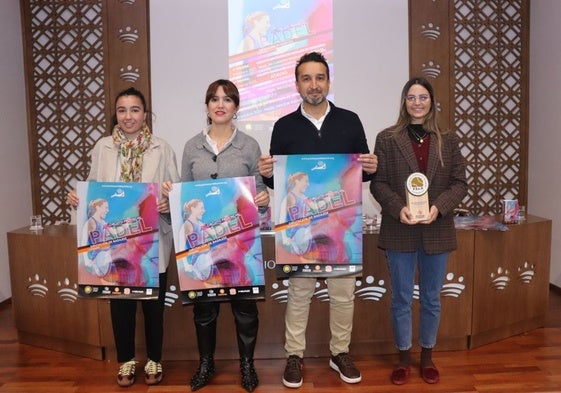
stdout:
<svg viewBox="0 0 561 393">
<path fill-rule="evenodd" d="M 430 140 L 425 175 L 429 179 L 429 205 L 438 208 L 439 216 L 428 225 L 406 225 L 399 221 L 399 212 L 406 205 L 405 182 L 411 173 L 419 171 L 407 130 L 380 132 L 374 154 L 378 156 L 378 171 L 370 183 L 370 192 L 382 206 L 378 246 L 413 252 L 422 244 L 428 254 L 455 250 L 454 209 L 467 194 L 465 160 L 457 136 L 453 133 L 442 136 L 444 166 L 438 157 L 436 138 Z"/>
</svg>

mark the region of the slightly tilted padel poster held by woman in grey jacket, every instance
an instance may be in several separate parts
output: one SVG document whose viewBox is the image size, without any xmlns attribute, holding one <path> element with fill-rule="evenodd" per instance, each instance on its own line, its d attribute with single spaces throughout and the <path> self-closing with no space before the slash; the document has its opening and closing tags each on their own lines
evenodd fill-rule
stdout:
<svg viewBox="0 0 561 393">
<path fill-rule="evenodd" d="M 175 183 L 170 211 L 183 304 L 263 299 L 253 176 Z"/>
</svg>

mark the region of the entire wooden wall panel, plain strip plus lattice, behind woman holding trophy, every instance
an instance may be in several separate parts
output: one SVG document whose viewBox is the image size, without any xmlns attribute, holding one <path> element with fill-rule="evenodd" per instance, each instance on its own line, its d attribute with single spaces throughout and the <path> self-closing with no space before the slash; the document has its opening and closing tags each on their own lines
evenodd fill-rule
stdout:
<svg viewBox="0 0 561 393">
<path fill-rule="evenodd" d="M 460 137 L 471 214 L 527 202 L 528 1 L 410 0 L 411 74 Z"/>
</svg>

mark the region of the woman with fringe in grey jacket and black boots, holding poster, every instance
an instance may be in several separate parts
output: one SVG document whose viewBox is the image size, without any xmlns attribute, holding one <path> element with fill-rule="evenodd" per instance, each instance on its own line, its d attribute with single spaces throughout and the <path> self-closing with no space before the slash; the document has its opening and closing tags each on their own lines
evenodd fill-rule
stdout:
<svg viewBox="0 0 561 393">
<path fill-rule="evenodd" d="M 240 106 L 238 88 L 229 80 L 218 79 L 208 86 L 205 104 L 208 127 L 185 143 L 181 181 L 255 176 L 255 203 L 268 206 L 269 193 L 257 167 L 261 155 L 259 144 L 233 123 Z M 252 392 L 259 384 L 253 364 L 259 330 L 257 303 L 252 299 L 232 300 L 230 306 L 236 323 L 241 385 L 246 391 Z M 190 381 L 193 391 L 206 386 L 215 372 L 214 351 L 219 312 L 219 302 L 197 302 L 193 307 L 200 360 Z"/>
</svg>

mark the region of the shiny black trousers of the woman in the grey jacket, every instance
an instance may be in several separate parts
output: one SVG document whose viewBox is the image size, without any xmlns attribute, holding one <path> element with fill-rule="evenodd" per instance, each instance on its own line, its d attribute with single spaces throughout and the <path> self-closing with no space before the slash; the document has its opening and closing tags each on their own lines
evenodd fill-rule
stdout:
<svg viewBox="0 0 561 393">
<path fill-rule="evenodd" d="M 235 300 L 230 302 L 240 358 L 253 359 L 257 331 L 259 330 L 259 311 L 255 300 Z M 216 319 L 220 313 L 219 302 L 195 303 L 193 308 L 199 356 L 214 355 L 216 349 Z"/>
</svg>

